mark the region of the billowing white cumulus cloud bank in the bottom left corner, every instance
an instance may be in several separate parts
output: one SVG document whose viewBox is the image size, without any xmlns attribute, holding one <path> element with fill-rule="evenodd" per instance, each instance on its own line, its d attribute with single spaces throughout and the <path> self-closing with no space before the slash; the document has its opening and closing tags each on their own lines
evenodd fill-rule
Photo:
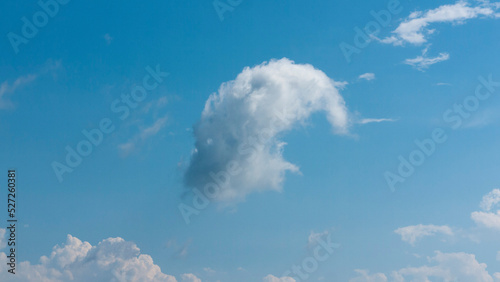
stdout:
<svg viewBox="0 0 500 282">
<path fill-rule="evenodd" d="M 0 253 L 0 263 L 7 257 Z M 132 242 L 109 238 L 92 246 L 68 235 L 66 243 L 55 246 L 40 264 L 18 264 L 16 281 L 164 281 L 177 282 L 174 276 L 161 272 L 149 255 L 141 254 Z M 0 268 L 0 281 L 12 281 L 13 275 Z M 192 280 L 199 281 L 199 280 Z"/>
</svg>

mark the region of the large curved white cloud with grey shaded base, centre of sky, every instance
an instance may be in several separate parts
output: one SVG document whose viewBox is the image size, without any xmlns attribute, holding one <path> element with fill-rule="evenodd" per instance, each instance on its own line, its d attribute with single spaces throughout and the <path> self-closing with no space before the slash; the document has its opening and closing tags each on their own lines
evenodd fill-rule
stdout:
<svg viewBox="0 0 500 282">
<path fill-rule="evenodd" d="M 220 192 L 214 198 L 223 202 L 280 191 L 285 173 L 299 171 L 283 159 L 283 133 L 305 125 L 315 112 L 326 114 L 335 133 L 348 133 L 350 118 L 338 91 L 342 85 L 286 58 L 246 67 L 206 101 L 194 126 L 186 186 L 204 189 L 215 183 Z"/>
</svg>

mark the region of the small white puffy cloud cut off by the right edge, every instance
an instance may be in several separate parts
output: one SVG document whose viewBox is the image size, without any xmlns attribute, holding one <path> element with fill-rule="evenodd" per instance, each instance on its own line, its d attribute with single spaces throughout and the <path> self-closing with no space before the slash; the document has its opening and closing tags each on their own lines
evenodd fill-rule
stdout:
<svg viewBox="0 0 500 282">
<path fill-rule="evenodd" d="M 471 213 L 471 218 L 480 226 L 500 230 L 500 209 L 491 212 L 493 207 L 500 202 L 500 189 L 493 189 L 491 192 L 483 196 L 479 206 L 483 211 L 475 211 Z"/>
</svg>

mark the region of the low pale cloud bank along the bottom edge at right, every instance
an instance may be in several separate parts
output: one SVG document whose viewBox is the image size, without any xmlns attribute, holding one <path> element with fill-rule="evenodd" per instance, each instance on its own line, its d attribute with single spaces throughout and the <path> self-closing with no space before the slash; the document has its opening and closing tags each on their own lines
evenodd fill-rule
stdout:
<svg viewBox="0 0 500 282">
<path fill-rule="evenodd" d="M 406 267 L 391 273 L 391 281 L 481 281 L 493 282 L 492 277 L 486 270 L 485 263 L 479 263 L 473 254 L 467 253 L 441 253 L 429 258 L 432 265 L 421 267 Z M 367 271 L 357 271 L 360 276 L 350 280 L 351 282 L 388 281 L 385 274 L 376 273 L 369 275 Z"/>
</svg>

